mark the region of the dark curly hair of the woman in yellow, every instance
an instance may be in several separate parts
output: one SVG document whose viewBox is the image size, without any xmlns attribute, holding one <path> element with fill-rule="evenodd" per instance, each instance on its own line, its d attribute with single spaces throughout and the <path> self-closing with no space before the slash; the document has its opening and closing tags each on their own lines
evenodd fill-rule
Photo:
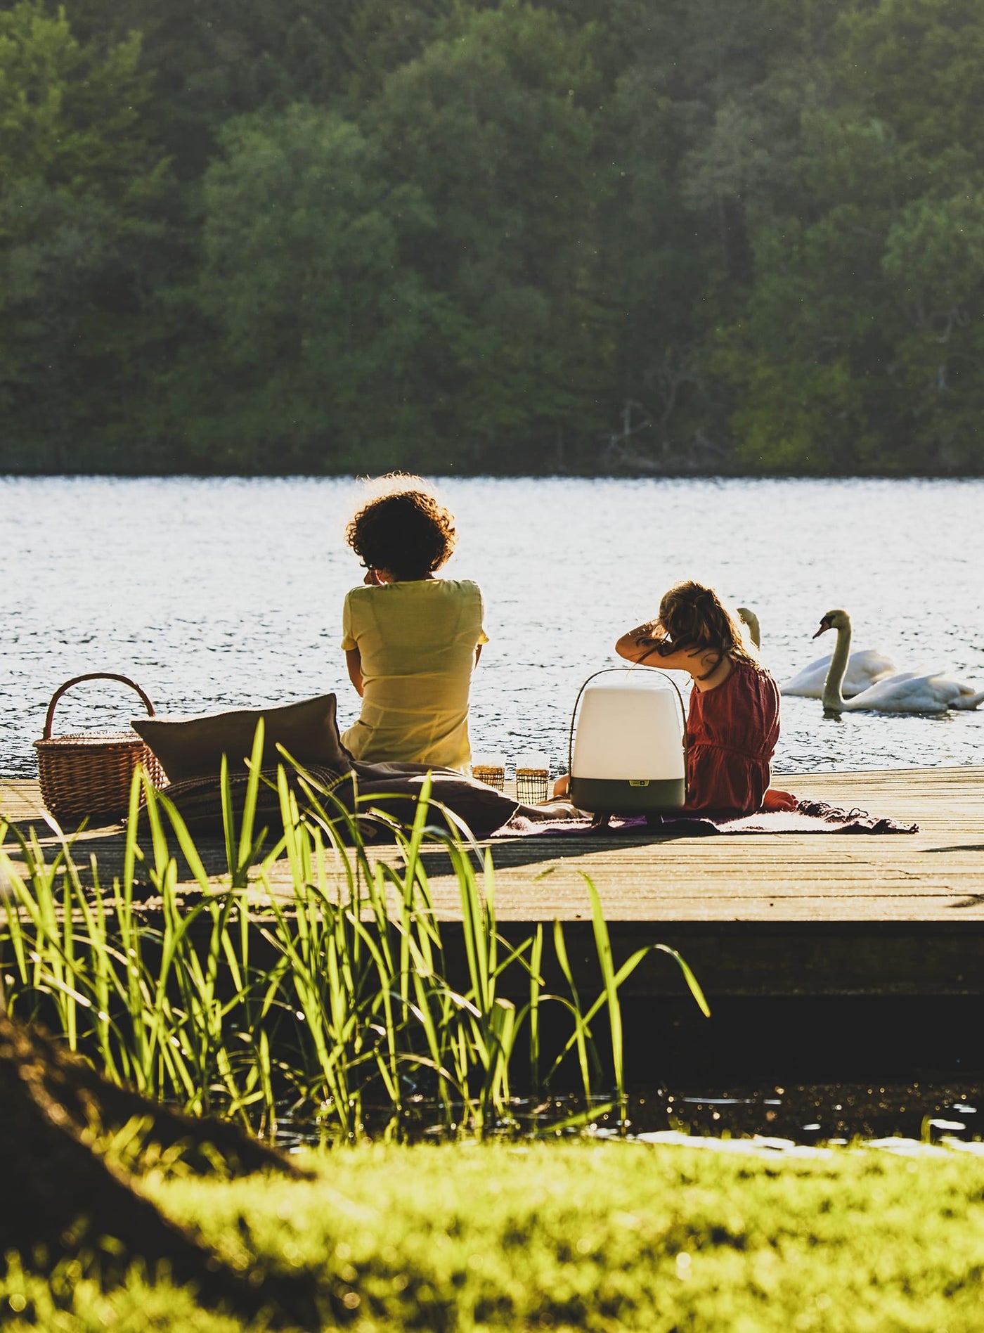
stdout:
<svg viewBox="0 0 984 1333">
<path fill-rule="evenodd" d="M 384 480 L 420 483 L 405 476 Z M 396 580 L 424 579 L 449 559 L 457 533 L 455 516 L 420 483 L 371 500 L 345 528 L 345 540 L 367 569 L 385 569 Z"/>
</svg>

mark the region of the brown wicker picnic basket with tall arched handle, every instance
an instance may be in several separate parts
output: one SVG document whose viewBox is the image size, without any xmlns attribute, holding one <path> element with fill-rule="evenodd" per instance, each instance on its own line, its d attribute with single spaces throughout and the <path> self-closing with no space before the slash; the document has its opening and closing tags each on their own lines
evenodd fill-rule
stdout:
<svg viewBox="0 0 984 1333">
<path fill-rule="evenodd" d="M 119 680 L 135 689 L 148 716 L 153 704 L 128 676 L 113 672 L 88 672 L 60 685 L 48 704 L 44 734 L 35 741 L 41 800 L 59 818 L 116 817 L 129 805 L 129 788 L 137 765 L 143 764 L 155 786 L 164 785 L 164 770 L 145 741 L 133 730 L 73 732 L 52 736 L 55 709 L 61 696 L 84 680 Z"/>
</svg>

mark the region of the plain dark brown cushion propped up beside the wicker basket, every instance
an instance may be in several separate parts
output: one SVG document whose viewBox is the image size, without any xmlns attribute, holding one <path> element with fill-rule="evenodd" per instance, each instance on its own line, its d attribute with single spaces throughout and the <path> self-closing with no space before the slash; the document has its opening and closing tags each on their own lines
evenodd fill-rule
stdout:
<svg viewBox="0 0 984 1333">
<path fill-rule="evenodd" d="M 237 708 L 204 717 L 135 717 L 137 732 L 160 760 L 171 782 L 189 777 L 209 777 L 221 769 L 223 754 L 229 772 L 245 768 L 253 749 L 256 724 L 264 718 L 264 766 L 280 761 L 277 744 L 299 764 L 325 764 L 348 773 L 352 756 L 341 744 L 335 718 L 335 694 L 303 698 L 276 708 Z"/>
</svg>

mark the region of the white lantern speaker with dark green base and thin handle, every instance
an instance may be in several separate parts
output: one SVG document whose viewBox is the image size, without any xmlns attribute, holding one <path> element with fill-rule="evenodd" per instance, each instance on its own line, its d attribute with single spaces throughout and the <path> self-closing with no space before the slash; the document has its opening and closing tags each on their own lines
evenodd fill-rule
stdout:
<svg viewBox="0 0 984 1333">
<path fill-rule="evenodd" d="M 592 814 L 679 810 L 687 802 L 685 734 L 683 694 L 664 672 L 596 672 L 571 717 L 571 800 Z"/>
</svg>

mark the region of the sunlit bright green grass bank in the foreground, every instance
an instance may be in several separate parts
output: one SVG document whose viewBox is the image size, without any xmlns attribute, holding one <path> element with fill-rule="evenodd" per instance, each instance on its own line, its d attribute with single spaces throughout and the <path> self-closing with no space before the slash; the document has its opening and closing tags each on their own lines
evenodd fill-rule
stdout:
<svg viewBox="0 0 984 1333">
<path fill-rule="evenodd" d="M 313 1269 L 365 1330 L 963 1333 L 984 1325 L 984 1161 L 637 1144 L 373 1146 L 307 1182 L 149 1177 L 231 1260 Z M 48 1304 L 53 1301 L 60 1306 Z M 13 1300 L 11 1300 L 13 1298 Z M 0 1282 L 12 1329 L 225 1333 L 184 1293 Z"/>
</svg>

